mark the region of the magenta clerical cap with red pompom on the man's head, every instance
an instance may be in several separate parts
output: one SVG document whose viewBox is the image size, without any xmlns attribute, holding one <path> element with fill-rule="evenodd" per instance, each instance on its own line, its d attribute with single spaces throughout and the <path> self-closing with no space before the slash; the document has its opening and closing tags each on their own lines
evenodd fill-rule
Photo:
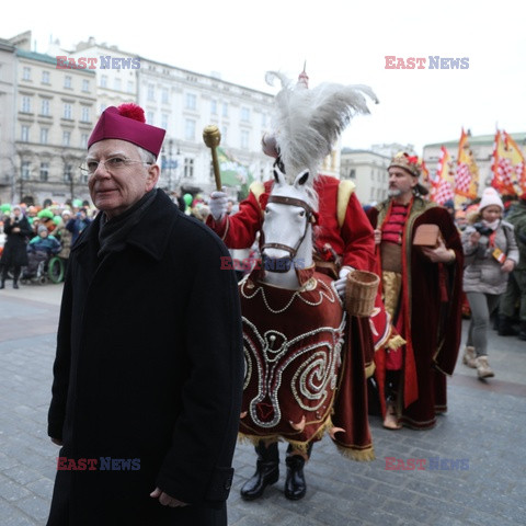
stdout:
<svg viewBox="0 0 526 526">
<path fill-rule="evenodd" d="M 145 111 L 137 104 L 110 106 L 99 117 L 88 140 L 88 149 L 100 140 L 121 139 L 140 146 L 157 159 L 165 133 L 162 128 L 146 124 Z"/>
</svg>

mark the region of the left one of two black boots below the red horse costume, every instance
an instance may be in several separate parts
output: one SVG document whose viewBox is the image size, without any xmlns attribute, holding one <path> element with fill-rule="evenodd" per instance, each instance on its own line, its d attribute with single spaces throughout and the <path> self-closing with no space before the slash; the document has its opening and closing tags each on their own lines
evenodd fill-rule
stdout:
<svg viewBox="0 0 526 526">
<path fill-rule="evenodd" d="M 260 498 L 265 488 L 279 479 L 279 450 L 277 438 L 261 439 L 255 446 L 258 461 L 255 473 L 241 488 L 241 496 L 248 501 Z"/>
</svg>

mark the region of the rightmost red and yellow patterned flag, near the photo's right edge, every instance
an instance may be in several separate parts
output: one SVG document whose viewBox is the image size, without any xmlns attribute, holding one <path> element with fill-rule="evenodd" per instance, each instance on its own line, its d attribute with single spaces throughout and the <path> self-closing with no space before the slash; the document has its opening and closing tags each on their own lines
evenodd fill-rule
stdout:
<svg viewBox="0 0 526 526">
<path fill-rule="evenodd" d="M 518 179 L 516 167 L 522 172 Z M 517 191 L 521 193 L 521 181 L 524 181 L 524 158 L 515 141 L 504 130 L 495 133 L 491 170 L 493 172 L 491 185 L 501 195 L 516 195 Z"/>
</svg>

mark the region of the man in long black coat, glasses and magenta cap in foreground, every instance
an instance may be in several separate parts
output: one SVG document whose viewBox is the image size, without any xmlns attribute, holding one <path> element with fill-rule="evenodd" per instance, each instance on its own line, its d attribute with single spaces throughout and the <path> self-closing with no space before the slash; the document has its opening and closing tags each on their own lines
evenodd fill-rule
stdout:
<svg viewBox="0 0 526 526">
<path fill-rule="evenodd" d="M 236 277 L 220 270 L 219 238 L 155 188 L 164 130 L 128 116 L 137 108 L 107 108 L 88 144 L 101 213 L 65 283 L 48 526 L 227 525 L 243 376 Z"/>
</svg>

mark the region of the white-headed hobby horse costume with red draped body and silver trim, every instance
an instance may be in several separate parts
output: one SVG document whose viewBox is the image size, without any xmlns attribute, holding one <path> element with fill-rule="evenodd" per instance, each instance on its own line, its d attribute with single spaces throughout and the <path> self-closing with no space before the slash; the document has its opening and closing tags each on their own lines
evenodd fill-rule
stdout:
<svg viewBox="0 0 526 526">
<path fill-rule="evenodd" d="M 294 184 L 274 170 L 264 210 L 262 268 L 240 283 L 245 384 L 240 431 L 307 450 L 331 413 L 345 312 L 332 279 L 315 272 L 317 196 L 308 171 Z"/>
</svg>

